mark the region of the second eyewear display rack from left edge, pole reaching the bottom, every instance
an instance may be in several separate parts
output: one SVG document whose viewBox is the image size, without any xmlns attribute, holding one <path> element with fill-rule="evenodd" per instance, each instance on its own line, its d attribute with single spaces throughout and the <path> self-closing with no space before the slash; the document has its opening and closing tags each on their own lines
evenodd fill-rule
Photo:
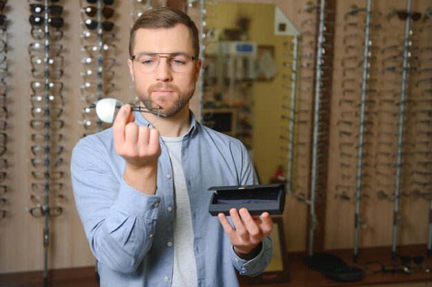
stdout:
<svg viewBox="0 0 432 287">
<path fill-rule="evenodd" d="M 54 86 L 60 86 L 58 93 L 61 92 L 63 85 L 59 82 L 52 82 L 52 79 L 58 80 L 61 78 L 63 71 L 61 65 L 63 63 L 59 52 L 61 46 L 57 44 L 60 49 L 53 48 L 52 41 L 59 40 L 62 35 L 59 30 L 53 30 L 54 28 L 60 28 L 63 25 L 63 19 L 59 18 L 59 14 L 62 11 L 62 6 L 50 6 L 48 0 L 44 0 L 43 4 L 32 3 L 30 4 L 30 23 L 32 24 L 32 35 L 35 38 L 34 29 L 39 29 L 39 35 L 43 34 L 41 40 L 43 43 L 32 43 L 29 47 L 30 56 L 32 58 L 32 75 L 35 78 L 39 78 L 40 81 L 32 82 L 32 89 L 35 94 L 32 95 L 32 114 L 42 116 L 42 118 L 34 118 L 31 122 L 31 126 L 37 131 L 43 131 L 43 135 L 35 134 L 32 136 L 33 139 L 39 136 L 43 138 L 41 145 L 33 145 L 32 153 L 36 158 L 32 158 L 33 167 L 41 167 L 43 171 L 32 171 L 32 178 L 35 180 L 43 181 L 41 183 L 32 184 L 33 190 L 35 187 L 43 186 L 43 198 L 38 198 L 37 195 L 32 195 L 32 202 L 36 205 L 29 209 L 30 214 L 33 217 L 43 217 L 43 249 L 44 249 L 44 264 L 43 264 L 43 286 L 48 286 L 48 252 L 50 244 L 50 217 L 61 215 L 63 209 L 61 206 L 56 204 L 52 206 L 53 200 L 51 195 L 55 193 L 55 188 L 52 181 L 57 181 L 61 178 L 62 172 L 55 171 L 55 168 L 61 162 L 61 158 L 55 158 L 63 150 L 59 145 L 52 144 L 55 135 L 52 131 L 58 131 L 63 126 L 63 121 L 59 120 L 61 115 L 61 107 L 52 107 L 53 103 L 56 103 L 58 98 L 61 99 L 60 94 L 56 94 L 53 90 Z M 56 9 L 56 10 L 55 10 Z M 52 15 L 56 14 L 56 18 Z M 57 24 L 55 24 L 57 21 Z M 43 29 L 43 31 L 41 30 Z M 55 32 L 52 32 L 55 31 Z M 53 33 L 53 35 L 50 35 Z M 38 49 L 39 47 L 39 49 Z M 55 51 L 57 50 L 57 52 Z M 41 54 L 37 55 L 37 52 Z M 32 54 L 35 53 L 35 54 Z M 41 58 L 43 57 L 43 58 Z M 41 89 L 41 94 L 36 91 L 38 88 Z M 41 104 L 40 106 L 37 103 Z M 54 111 L 56 109 L 56 111 Z M 58 135 L 58 134 L 57 134 Z M 40 152 L 41 151 L 41 152 Z M 42 156 L 43 158 L 38 158 Z M 41 163 L 42 162 L 42 163 Z M 59 182 L 56 183 L 56 186 Z M 56 198 L 61 197 L 57 194 Z"/>
</svg>

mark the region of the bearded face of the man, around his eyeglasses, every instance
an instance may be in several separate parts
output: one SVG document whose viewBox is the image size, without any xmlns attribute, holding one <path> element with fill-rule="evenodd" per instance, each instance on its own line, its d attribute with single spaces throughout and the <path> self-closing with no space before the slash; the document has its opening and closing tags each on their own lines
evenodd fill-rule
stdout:
<svg viewBox="0 0 432 287">
<path fill-rule="evenodd" d="M 139 29 L 135 34 L 133 54 L 141 52 L 165 53 L 181 52 L 197 56 L 193 52 L 192 39 L 185 25 L 173 28 Z M 188 102 L 195 92 L 201 60 L 193 61 L 187 72 L 173 72 L 161 58 L 154 72 L 141 72 L 134 65 L 135 60 L 128 60 L 130 75 L 135 84 L 135 92 L 140 100 L 151 100 L 160 105 L 167 116 L 177 114 L 181 109 L 188 109 Z"/>
</svg>

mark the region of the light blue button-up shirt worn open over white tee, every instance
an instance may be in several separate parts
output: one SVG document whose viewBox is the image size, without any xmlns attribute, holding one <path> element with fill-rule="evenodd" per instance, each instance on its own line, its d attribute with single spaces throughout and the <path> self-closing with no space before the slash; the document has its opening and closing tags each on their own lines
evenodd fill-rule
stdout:
<svg viewBox="0 0 432 287">
<path fill-rule="evenodd" d="M 258 275 L 270 262 L 270 237 L 251 260 L 238 257 L 217 217 L 208 213 L 209 187 L 257 184 L 248 151 L 235 138 L 191 125 L 181 144 L 181 163 L 190 198 L 197 286 L 236 287 L 237 275 Z M 151 126 L 139 112 L 137 125 Z M 164 142 L 157 170 L 157 191 L 146 195 L 123 180 L 125 160 L 114 147 L 112 129 L 81 139 L 72 151 L 71 176 L 77 210 L 101 286 L 171 286 L 175 212 L 173 170 Z"/>
</svg>

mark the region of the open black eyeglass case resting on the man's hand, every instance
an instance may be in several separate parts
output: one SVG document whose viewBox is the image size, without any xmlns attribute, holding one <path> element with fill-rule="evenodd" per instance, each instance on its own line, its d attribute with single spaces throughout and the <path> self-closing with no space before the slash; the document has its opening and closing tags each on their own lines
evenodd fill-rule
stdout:
<svg viewBox="0 0 432 287">
<path fill-rule="evenodd" d="M 215 191 L 210 199 L 208 212 L 217 216 L 229 215 L 230 209 L 248 209 L 251 215 L 261 215 L 264 211 L 271 215 L 284 213 L 284 184 L 257 184 L 226 187 L 210 187 Z"/>
</svg>

